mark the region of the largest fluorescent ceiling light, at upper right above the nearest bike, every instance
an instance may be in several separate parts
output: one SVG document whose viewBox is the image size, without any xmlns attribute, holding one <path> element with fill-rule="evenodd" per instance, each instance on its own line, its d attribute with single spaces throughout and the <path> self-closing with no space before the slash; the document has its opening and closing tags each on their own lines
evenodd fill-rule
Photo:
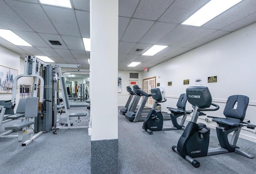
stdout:
<svg viewBox="0 0 256 174">
<path fill-rule="evenodd" d="M 242 0 L 211 0 L 182 24 L 200 27 Z"/>
</svg>

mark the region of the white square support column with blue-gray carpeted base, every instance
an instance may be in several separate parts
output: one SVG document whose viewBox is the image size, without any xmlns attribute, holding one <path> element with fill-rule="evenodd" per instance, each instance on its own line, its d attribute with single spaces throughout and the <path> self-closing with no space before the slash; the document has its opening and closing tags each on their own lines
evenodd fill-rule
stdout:
<svg viewBox="0 0 256 174">
<path fill-rule="evenodd" d="M 90 38 L 91 173 L 117 173 L 118 0 L 90 1 Z"/>
</svg>

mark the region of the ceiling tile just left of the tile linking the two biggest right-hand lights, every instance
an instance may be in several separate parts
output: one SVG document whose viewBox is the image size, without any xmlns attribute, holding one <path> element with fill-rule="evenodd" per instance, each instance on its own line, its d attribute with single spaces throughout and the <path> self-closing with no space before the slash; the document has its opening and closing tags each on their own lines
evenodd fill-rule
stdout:
<svg viewBox="0 0 256 174">
<path fill-rule="evenodd" d="M 172 23 L 156 22 L 150 30 L 140 39 L 140 43 L 156 43 L 177 25 Z"/>
</svg>

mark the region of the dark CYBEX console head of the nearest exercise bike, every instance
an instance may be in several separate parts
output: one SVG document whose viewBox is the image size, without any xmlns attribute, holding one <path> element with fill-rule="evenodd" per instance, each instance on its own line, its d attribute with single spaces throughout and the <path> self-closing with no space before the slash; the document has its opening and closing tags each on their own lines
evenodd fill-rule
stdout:
<svg viewBox="0 0 256 174">
<path fill-rule="evenodd" d="M 206 86 L 191 86 L 186 89 L 188 102 L 199 108 L 210 108 L 212 96 Z"/>
</svg>

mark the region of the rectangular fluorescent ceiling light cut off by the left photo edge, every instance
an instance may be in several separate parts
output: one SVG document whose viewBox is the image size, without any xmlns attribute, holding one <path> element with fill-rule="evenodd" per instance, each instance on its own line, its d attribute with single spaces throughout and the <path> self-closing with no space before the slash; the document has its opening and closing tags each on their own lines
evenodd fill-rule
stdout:
<svg viewBox="0 0 256 174">
<path fill-rule="evenodd" d="M 24 41 L 22 38 L 20 38 L 20 36 L 16 35 L 14 32 L 8 29 L 0 29 L 0 37 L 4 38 L 10 43 L 13 43 L 14 45 L 32 47 L 32 45 L 30 45 L 29 43 Z"/>
</svg>

